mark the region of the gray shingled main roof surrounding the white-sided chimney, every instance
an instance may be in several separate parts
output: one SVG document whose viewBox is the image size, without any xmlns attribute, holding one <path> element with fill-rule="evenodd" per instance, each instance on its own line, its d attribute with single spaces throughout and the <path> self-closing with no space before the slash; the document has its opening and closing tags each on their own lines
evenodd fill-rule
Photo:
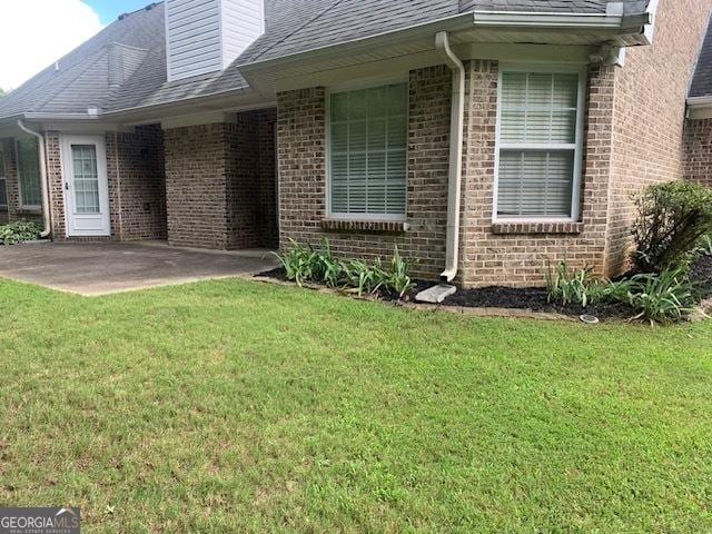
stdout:
<svg viewBox="0 0 712 534">
<path fill-rule="evenodd" d="M 605 12 L 609 0 L 265 0 L 266 31 L 221 72 L 168 82 L 164 4 L 123 16 L 0 99 L 0 118 L 86 113 L 249 90 L 238 66 L 454 17 L 472 10 Z M 640 3 L 640 0 L 626 0 Z M 644 3 L 644 2 L 643 2 Z M 120 44 L 117 47 L 117 44 Z M 115 56 L 111 56 L 115 53 Z M 116 56 L 118 55 L 118 56 Z M 118 60 L 117 60 L 118 57 Z M 121 78 L 113 69 L 122 65 Z"/>
</svg>

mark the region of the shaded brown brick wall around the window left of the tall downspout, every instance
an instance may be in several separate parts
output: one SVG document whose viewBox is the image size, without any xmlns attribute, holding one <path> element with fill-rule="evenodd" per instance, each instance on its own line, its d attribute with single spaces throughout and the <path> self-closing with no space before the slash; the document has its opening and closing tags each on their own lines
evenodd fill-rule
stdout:
<svg viewBox="0 0 712 534">
<path fill-rule="evenodd" d="M 324 225 L 326 218 L 326 92 L 278 95 L 280 244 L 328 238 L 343 256 L 388 257 L 397 246 L 417 258 L 417 276 L 437 277 L 445 265 L 451 73 L 444 66 L 411 72 L 408 228 L 398 225 Z M 389 231 L 377 231 L 386 229 Z M 396 231 L 394 231 L 396 230 Z"/>
</svg>

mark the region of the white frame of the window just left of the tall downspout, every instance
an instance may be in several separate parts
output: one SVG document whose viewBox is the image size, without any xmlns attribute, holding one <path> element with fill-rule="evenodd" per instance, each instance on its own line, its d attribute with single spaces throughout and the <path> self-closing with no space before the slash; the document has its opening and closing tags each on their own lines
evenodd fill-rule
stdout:
<svg viewBox="0 0 712 534">
<path fill-rule="evenodd" d="M 357 91 L 359 89 L 375 89 L 383 86 L 406 85 L 406 93 L 411 95 L 409 80 L 407 75 L 395 77 L 370 78 L 368 80 L 352 81 L 329 86 L 326 89 L 326 218 L 330 220 L 356 220 L 356 221 L 395 221 L 405 222 L 408 218 L 408 175 L 409 175 L 409 136 L 406 132 L 406 157 L 405 157 L 405 214 L 338 214 L 332 211 L 332 95 L 339 92 Z M 409 100 L 409 98 L 408 98 Z M 406 128 L 411 123 L 411 102 L 406 102 Z"/>
</svg>

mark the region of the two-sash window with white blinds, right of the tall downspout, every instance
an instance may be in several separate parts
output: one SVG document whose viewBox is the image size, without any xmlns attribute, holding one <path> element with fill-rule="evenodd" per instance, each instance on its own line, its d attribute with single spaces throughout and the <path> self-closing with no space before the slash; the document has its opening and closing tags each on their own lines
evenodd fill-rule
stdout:
<svg viewBox="0 0 712 534">
<path fill-rule="evenodd" d="M 503 72 L 498 218 L 572 218 L 578 73 Z"/>
</svg>

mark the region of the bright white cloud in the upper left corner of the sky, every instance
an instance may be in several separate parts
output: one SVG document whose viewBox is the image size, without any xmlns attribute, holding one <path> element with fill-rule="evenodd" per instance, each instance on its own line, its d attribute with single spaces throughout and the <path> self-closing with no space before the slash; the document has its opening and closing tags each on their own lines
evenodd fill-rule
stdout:
<svg viewBox="0 0 712 534">
<path fill-rule="evenodd" d="M 0 88 L 18 88 L 97 33 L 99 16 L 80 0 L 0 0 Z"/>
</svg>

